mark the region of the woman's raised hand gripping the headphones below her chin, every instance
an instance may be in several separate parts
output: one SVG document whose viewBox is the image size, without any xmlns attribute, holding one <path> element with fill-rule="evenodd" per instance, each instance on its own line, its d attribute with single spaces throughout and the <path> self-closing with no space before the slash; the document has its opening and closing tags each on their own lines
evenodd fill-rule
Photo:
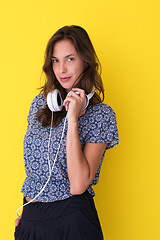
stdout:
<svg viewBox="0 0 160 240">
<path fill-rule="evenodd" d="M 79 92 L 78 95 L 76 92 Z M 86 109 L 82 111 L 85 104 L 85 91 L 80 88 L 72 88 L 72 91 L 67 95 L 63 102 L 67 113 L 68 121 L 78 121 L 78 118 L 85 114 Z"/>
</svg>

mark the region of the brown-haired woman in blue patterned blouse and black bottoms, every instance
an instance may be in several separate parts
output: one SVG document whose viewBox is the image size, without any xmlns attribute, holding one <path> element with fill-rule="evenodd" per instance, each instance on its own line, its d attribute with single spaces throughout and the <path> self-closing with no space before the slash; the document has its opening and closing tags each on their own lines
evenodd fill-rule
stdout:
<svg viewBox="0 0 160 240">
<path fill-rule="evenodd" d="M 98 182 L 105 151 L 118 144 L 118 130 L 114 111 L 102 103 L 99 66 L 79 26 L 59 29 L 48 42 L 46 83 L 31 104 L 24 138 L 27 177 L 21 192 L 27 205 L 15 222 L 16 240 L 103 239 L 91 186 Z M 47 96 L 54 89 L 63 107 L 53 113 Z"/>
</svg>

